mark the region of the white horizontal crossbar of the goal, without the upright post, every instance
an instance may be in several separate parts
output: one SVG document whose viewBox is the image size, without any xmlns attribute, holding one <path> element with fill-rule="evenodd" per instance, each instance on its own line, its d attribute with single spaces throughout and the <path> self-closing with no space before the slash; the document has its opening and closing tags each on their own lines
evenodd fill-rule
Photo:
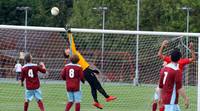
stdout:
<svg viewBox="0 0 200 111">
<path fill-rule="evenodd" d="M 53 31 L 66 32 L 65 28 L 56 27 L 37 27 L 37 26 L 15 26 L 15 25 L 0 25 L 1 29 L 16 29 L 16 30 L 35 30 L 35 31 Z M 102 29 L 81 29 L 71 28 L 72 32 L 78 33 L 104 33 L 104 34 L 132 34 L 132 35 L 160 35 L 160 36 L 195 36 L 200 37 L 200 33 L 185 33 L 185 32 L 158 32 L 158 31 L 130 31 L 130 30 L 102 30 Z"/>
</svg>

